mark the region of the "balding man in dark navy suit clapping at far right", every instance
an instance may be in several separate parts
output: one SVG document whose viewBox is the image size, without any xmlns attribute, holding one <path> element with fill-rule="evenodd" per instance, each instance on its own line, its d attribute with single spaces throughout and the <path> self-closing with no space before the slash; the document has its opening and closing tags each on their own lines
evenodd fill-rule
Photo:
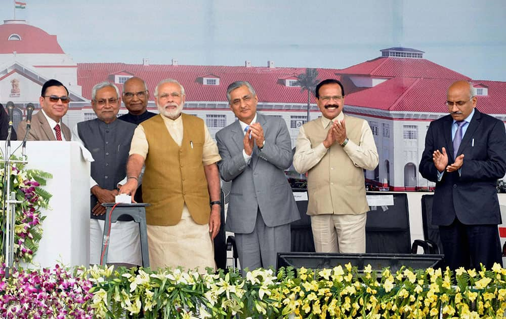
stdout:
<svg viewBox="0 0 506 319">
<path fill-rule="evenodd" d="M 501 121 L 475 108 L 477 100 L 466 81 L 448 88 L 450 114 L 430 124 L 419 166 L 436 182 L 432 221 L 451 269 L 502 264 L 496 182 L 506 173 L 506 133 Z"/>
</svg>

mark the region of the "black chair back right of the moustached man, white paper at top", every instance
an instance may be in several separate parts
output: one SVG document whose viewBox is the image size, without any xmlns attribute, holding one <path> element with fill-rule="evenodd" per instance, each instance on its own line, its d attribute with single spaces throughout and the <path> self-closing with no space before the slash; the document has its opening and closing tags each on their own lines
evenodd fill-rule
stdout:
<svg viewBox="0 0 506 319">
<path fill-rule="evenodd" d="M 365 225 L 366 253 L 409 254 L 409 210 L 407 194 L 367 192 L 367 196 L 392 196 L 389 206 L 372 206 Z"/>
</svg>

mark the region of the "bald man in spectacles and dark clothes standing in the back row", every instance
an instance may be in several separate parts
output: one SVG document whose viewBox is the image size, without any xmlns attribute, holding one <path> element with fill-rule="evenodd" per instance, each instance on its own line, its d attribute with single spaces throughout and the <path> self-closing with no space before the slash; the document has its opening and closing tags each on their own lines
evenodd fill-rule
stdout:
<svg viewBox="0 0 506 319">
<path fill-rule="evenodd" d="M 131 77 L 123 85 L 123 104 L 128 113 L 119 116 L 122 121 L 139 125 L 156 115 L 148 111 L 149 91 L 146 82 L 140 77 Z"/>
</svg>

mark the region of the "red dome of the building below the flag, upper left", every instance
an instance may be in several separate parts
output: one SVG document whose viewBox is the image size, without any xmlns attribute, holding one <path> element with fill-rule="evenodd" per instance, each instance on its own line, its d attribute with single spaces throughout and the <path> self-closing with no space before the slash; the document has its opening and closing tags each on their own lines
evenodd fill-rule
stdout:
<svg viewBox="0 0 506 319">
<path fill-rule="evenodd" d="M 0 24 L 0 54 L 64 54 L 56 35 L 29 25 L 25 20 L 4 20 Z"/>
</svg>

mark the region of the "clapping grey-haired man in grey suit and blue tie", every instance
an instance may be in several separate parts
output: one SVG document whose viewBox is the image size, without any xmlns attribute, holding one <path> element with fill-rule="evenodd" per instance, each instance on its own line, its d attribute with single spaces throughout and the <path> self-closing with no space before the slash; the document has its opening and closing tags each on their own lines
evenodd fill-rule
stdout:
<svg viewBox="0 0 506 319">
<path fill-rule="evenodd" d="M 241 267 L 274 267 L 278 252 L 290 251 L 290 222 L 300 219 L 284 170 L 292 161 L 282 118 L 257 113 L 248 82 L 227 88 L 235 121 L 216 133 L 220 175 L 232 181 L 225 229 L 235 233 Z"/>
</svg>

